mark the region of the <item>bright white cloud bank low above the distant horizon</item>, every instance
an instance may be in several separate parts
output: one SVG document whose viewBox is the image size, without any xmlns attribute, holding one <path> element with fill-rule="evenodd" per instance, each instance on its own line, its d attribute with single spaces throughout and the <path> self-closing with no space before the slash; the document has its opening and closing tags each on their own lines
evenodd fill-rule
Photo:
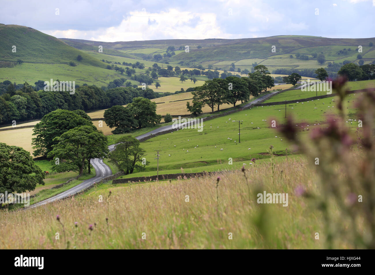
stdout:
<svg viewBox="0 0 375 275">
<path fill-rule="evenodd" d="M 93 31 L 63 30 L 48 33 L 55 37 L 105 42 L 154 39 L 238 38 L 223 33 L 215 13 L 193 13 L 169 9 L 165 12 L 130 12 L 118 26 Z"/>
</svg>

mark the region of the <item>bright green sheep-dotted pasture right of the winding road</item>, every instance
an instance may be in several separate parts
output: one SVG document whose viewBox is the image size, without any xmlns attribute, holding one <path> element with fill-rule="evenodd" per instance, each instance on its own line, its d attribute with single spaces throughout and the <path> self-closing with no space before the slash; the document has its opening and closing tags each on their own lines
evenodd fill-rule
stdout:
<svg viewBox="0 0 375 275">
<path fill-rule="evenodd" d="M 348 100 L 348 119 L 357 119 L 352 107 L 354 98 L 353 96 L 353 99 Z M 293 114 L 297 121 L 306 122 L 309 130 L 312 130 L 321 127 L 319 124 L 324 123 L 327 114 L 336 113 L 335 100 L 335 97 L 331 97 L 288 104 L 287 114 Z M 176 129 L 173 133 L 153 137 L 141 144 L 147 152 L 145 158 L 150 161 L 150 165 L 146 166 L 145 171 L 133 172 L 123 178 L 156 174 L 156 149 L 162 150 L 159 174 L 180 172 L 181 168 L 184 172 L 239 168 L 244 163 L 249 165 L 252 158 L 258 161 L 269 158 L 267 149 L 270 145 L 283 155 L 286 148 L 291 148 L 291 144 L 271 128 L 270 124 L 273 119 L 276 120 L 276 126 L 284 123 L 284 116 L 284 106 L 254 107 L 203 122 L 205 126 L 201 132 L 197 129 Z M 238 120 L 241 120 L 241 143 L 238 140 Z M 356 125 L 356 122 L 351 124 L 353 129 Z M 308 132 L 303 132 L 302 137 L 306 133 Z M 233 166 L 229 165 L 229 158 L 233 159 Z"/>
</svg>

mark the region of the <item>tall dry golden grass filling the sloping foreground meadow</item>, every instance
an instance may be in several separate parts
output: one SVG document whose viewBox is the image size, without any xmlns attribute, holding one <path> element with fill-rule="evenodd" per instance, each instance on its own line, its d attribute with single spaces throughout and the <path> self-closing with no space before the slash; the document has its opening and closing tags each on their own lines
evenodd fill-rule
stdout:
<svg viewBox="0 0 375 275">
<path fill-rule="evenodd" d="M 245 174 L 223 171 L 172 183 L 113 188 L 111 194 L 109 189 L 98 190 L 35 209 L 2 211 L 0 248 L 324 247 L 321 214 L 298 191 L 303 184 L 319 192 L 317 176 L 305 161 L 275 164 L 274 179 L 270 164 L 256 163 Z M 257 193 L 263 191 L 288 193 L 288 206 L 257 204 Z M 60 239 L 55 239 L 56 232 Z M 315 239 L 315 232 L 320 232 L 320 239 Z"/>
</svg>

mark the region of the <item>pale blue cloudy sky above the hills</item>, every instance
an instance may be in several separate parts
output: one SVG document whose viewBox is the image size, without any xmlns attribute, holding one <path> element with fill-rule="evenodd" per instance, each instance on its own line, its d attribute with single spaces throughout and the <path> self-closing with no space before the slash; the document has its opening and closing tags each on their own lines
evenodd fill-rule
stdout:
<svg viewBox="0 0 375 275">
<path fill-rule="evenodd" d="M 375 37 L 375 0 L 0 0 L 0 23 L 104 42 Z"/>
</svg>

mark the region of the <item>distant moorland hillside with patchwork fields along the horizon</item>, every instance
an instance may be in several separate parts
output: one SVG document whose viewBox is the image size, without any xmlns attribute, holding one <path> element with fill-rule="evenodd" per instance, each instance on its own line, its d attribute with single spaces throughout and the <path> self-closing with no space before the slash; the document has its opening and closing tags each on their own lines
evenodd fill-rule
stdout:
<svg viewBox="0 0 375 275">
<path fill-rule="evenodd" d="M 123 52 L 152 60 L 155 54 L 166 54 L 168 46 L 175 47 L 175 55 L 164 57 L 159 62 L 178 63 L 182 66 L 193 67 L 201 64 L 213 68 L 229 70 L 234 63 L 236 71 L 251 70 L 252 64 L 266 65 L 270 71 L 276 68 L 287 69 L 315 69 L 326 67 L 328 62 L 340 63 L 345 60 L 358 62 L 358 54 L 362 55 L 365 64 L 375 61 L 375 38 L 363 39 L 333 39 L 316 36 L 272 36 L 246 39 L 172 39 L 129 42 L 96 42 L 81 39 L 63 39 L 76 48 L 87 48 L 87 45 L 98 47 L 102 45 L 107 50 Z M 85 46 L 86 45 L 86 46 Z M 189 46 L 189 52 L 179 49 Z M 362 53 L 358 46 L 362 46 Z M 199 49 L 198 49 L 199 46 Z M 276 52 L 272 52 L 275 46 Z M 350 50 L 349 50 L 350 49 Z M 105 53 L 105 51 L 104 51 Z M 318 54 L 323 53 L 326 62 L 321 65 L 317 61 Z M 302 57 L 296 56 L 301 55 Z M 298 55 L 299 54 L 299 55 Z M 114 54 L 116 55 L 116 54 Z M 308 59 L 307 59 L 308 58 Z"/>
</svg>

